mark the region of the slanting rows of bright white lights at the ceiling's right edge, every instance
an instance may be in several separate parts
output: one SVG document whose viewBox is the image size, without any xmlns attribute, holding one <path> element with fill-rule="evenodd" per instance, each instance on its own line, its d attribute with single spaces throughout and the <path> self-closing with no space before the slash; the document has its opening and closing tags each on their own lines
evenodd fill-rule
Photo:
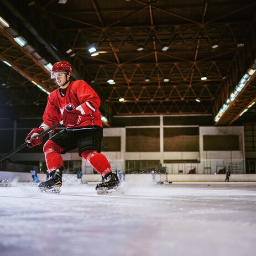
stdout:
<svg viewBox="0 0 256 256">
<path fill-rule="evenodd" d="M 256 60 L 254 60 L 254 62 L 256 62 Z M 252 65 L 252 67 L 254 67 L 254 66 Z M 216 114 L 215 119 L 214 119 L 215 122 L 218 122 L 221 119 L 223 114 L 227 111 L 229 105 L 231 105 L 231 103 L 236 99 L 236 97 L 239 95 L 239 93 L 243 90 L 246 83 L 250 80 L 250 78 L 252 77 L 252 75 L 255 72 L 255 69 L 253 69 L 252 67 L 250 67 L 248 69 L 247 73 L 245 73 L 243 75 L 242 79 L 238 82 L 238 84 L 234 88 L 233 92 L 229 95 L 229 98 L 223 104 L 220 111 Z M 251 106 L 253 106 L 253 104 L 251 104 L 250 107 Z M 239 116 L 242 116 L 242 114 L 244 112 L 246 112 L 248 110 L 248 108 L 249 108 L 249 106 L 247 107 L 247 109 L 244 109 L 244 111 Z"/>
</svg>

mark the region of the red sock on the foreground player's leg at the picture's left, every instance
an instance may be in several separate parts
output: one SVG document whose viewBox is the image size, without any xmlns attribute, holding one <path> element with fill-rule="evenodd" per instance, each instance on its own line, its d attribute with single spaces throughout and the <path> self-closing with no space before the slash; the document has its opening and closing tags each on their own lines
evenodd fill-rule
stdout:
<svg viewBox="0 0 256 256">
<path fill-rule="evenodd" d="M 44 154 L 47 169 L 51 172 L 57 170 L 62 166 L 62 157 L 60 156 L 61 151 L 64 148 L 61 148 L 58 144 L 53 142 L 53 140 L 47 140 L 44 144 Z"/>
</svg>

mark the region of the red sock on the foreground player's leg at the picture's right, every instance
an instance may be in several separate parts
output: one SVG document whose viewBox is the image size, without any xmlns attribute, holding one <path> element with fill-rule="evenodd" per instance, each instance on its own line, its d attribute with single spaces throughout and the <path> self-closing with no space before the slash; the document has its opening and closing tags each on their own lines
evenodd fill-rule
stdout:
<svg viewBox="0 0 256 256">
<path fill-rule="evenodd" d="M 98 153 L 96 150 L 86 150 L 82 152 L 82 157 L 88 161 L 92 167 L 103 177 L 111 173 L 111 166 L 105 155 Z"/>
</svg>

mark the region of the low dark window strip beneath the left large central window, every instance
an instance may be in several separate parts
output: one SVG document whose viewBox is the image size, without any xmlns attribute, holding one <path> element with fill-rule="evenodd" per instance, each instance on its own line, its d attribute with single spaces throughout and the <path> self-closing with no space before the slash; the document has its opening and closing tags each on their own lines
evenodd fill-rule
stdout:
<svg viewBox="0 0 256 256">
<path fill-rule="evenodd" d="M 127 160 L 126 173 L 151 173 L 159 166 L 159 160 Z"/>
</svg>

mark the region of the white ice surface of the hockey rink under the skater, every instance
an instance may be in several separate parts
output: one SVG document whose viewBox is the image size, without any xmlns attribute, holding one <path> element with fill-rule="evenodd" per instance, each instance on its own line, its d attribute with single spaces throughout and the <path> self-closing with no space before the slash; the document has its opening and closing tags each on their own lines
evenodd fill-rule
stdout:
<svg viewBox="0 0 256 256">
<path fill-rule="evenodd" d="M 99 196 L 95 183 L 60 194 L 0 186 L 0 254 L 207 255 L 256 252 L 256 183 L 129 184 Z"/>
</svg>

